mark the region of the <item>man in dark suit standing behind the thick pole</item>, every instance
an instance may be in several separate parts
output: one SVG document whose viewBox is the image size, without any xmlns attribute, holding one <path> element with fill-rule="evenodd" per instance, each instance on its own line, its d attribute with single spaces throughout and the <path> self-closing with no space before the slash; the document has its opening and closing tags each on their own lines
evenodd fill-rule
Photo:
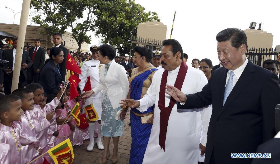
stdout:
<svg viewBox="0 0 280 164">
<path fill-rule="evenodd" d="M 4 70 L 3 85 L 4 85 L 5 94 L 11 94 L 13 71 L 14 71 L 14 64 L 15 64 L 15 57 L 16 57 L 16 46 L 17 46 L 17 38 L 13 40 L 13 48 L 4 50 L 2 54 L 2 60 L 9 61 L 7 69 Z M 31 67 L 31 65 L 32 65 L 32 61 L 29 57 L 28 51 L 23 51 L 18 88 L 24 87 L 24 84 L 27 80 L 26 69 Z"/>
</svg>

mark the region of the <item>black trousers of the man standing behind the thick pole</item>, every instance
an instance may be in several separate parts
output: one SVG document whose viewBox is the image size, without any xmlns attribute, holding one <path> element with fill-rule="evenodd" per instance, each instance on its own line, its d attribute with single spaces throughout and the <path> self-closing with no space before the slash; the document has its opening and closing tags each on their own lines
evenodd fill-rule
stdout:
<svg viewBox="0 0 280 164">
<path fill-rule="evenodd" d="M 4 93 L 6 94 L 11 94 L 11 90 L 12 90 L 12 80 L 13 80 L 13 71 L 11 72 L 10 75 L 7 75 L 6 73 L 4 73 L 4 80 L 3 80 L 3 87 L 4 87 Z M 24 84 L 26 82 L 25 76 L 24 74 L 20 73 L 20 78 L 18 81 L 18 88 L 24 88 Z"/>
</svg>

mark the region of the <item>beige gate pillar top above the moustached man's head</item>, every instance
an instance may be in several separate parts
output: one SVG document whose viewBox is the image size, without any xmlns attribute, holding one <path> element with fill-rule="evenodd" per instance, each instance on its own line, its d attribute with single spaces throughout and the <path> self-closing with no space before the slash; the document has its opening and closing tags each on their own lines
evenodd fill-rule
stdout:
<svg viewBox="0 0 280 164">
<path fill-rule="evenodd" d="M 140 23 L 137 27 L 137 39 L 140 37 L 147 40 L 164 41 L 167 35 L 167 26 L 161 22 Z"/>
</svg>

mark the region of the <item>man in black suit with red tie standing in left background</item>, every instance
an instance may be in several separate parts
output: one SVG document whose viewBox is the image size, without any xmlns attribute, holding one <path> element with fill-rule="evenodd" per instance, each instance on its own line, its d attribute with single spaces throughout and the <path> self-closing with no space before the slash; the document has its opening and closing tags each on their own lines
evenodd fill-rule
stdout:
<svg viewBox="0 0 280 164">
<path fill-rule="evenodd" d="M 43 48 L 40 47 L 41 40 L 35 39 L 34 41 L 35 47 L 31 47 L 29 49 L 29 56 L 33 62 L 30 68 L 27 70 L 27 83 L 30 84 L 33 82 L 39 82 L 39 73 L 44 65 L 45 62 L 45 51 Z"/>
</svg>

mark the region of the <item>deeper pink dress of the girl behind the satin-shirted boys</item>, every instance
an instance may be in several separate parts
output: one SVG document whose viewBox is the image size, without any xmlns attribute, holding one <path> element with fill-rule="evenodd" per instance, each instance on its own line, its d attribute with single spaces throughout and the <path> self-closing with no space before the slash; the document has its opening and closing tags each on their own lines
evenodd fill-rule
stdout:
<svg viewBox="0 0 280 164">
<path fill-rule="evenodd" d="M 56 117 L 59 117 L 59 119 L 66 119 L 67 115 L 67 110 L 64 109 L 56 109 L 55 110 Z M 59 131 L 58 136 L 56 137 L 56 142 L 55 145 L 58 145 L 60 142 L 66 140 L 69 138 L 71 134 L 70 127 L 67 123 L 64 123 L 63 125 L 57 125 L 57 129 Z"/>
</svg>

